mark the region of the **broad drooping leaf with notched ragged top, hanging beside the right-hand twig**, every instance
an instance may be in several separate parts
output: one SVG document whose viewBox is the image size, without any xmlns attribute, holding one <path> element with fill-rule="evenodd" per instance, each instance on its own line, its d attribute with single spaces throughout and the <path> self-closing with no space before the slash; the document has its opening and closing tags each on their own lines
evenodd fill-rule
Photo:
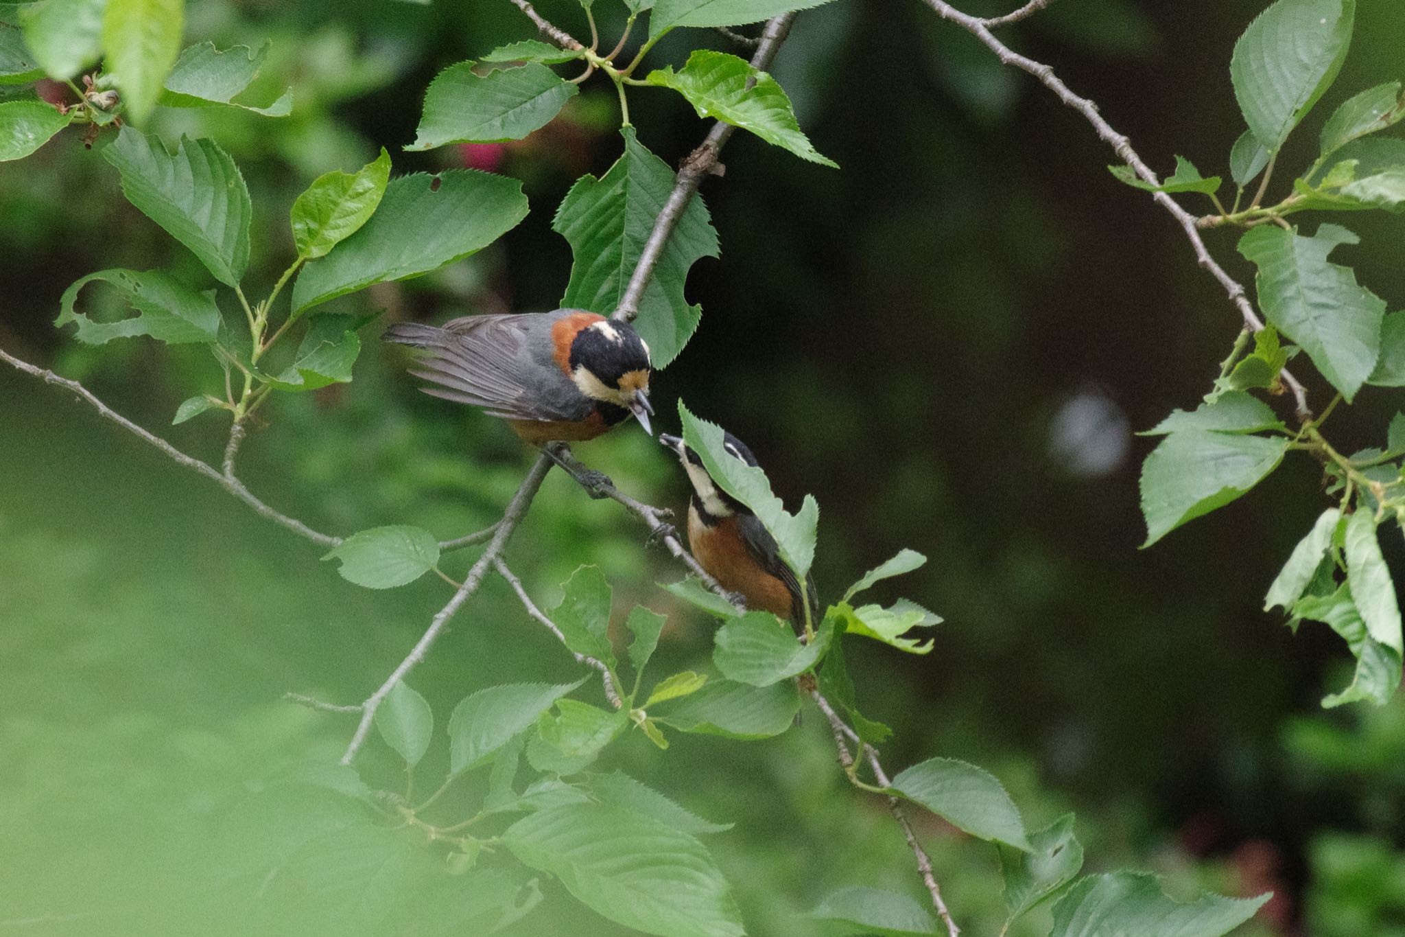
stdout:
<svg viewBox="0 0 1405 937">
<path fill-rule="evenodd" d="M 1273 225 L 1252 228 L 1239 253 L 1259 266 L 1259 305 L 1279 332 L 1297 341 L 1350 403 L 1375 368 L 1385 303 L 1356 282 L 1350 267 L 1328 263 L 1339 244 L 1357 243 L 1338 225 L 1312 237 Z"/>
</svg>

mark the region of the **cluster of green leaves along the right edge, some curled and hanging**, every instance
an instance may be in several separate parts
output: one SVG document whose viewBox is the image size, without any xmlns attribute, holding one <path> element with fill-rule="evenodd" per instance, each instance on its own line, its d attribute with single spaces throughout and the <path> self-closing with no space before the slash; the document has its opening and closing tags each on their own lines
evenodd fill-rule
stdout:
<svg viewBox="0 0 1405 937">
<path fill-rule="evenodd" d="M 1321 426 L 1338 400 L 1350 403 L 1366 385 L 1405 386 L 1405 312 L 1387 315 L 1384 299 L 1360 285 L 1350 267 L 1328 260 L 1357 236 L 1336 223 L 1304 235 L 1284 221 L 1302 211 L 1398 212 L 1405 208 L 1405 139 L 1380 136 L 1405 117 L 1401 83 L 1391 81 L 1343 103 L 1324 124 L 1319 155 L 1280 202 L 1262 205 L 1288 135 L 1328 91 L 1346 59 L 1354 0 L 1279 0 L 1235 45 L 1235 96 L 1249 129 L 1229 155 L 1238 185 L 1227 211 L 1220 177 L 1204 178 L 1186 159 L 1161 185 L 1114 167 L 1123 181 L 1162 192 L 1201 192 L 1217 215 L 1204 226 L 1243 226 L 1239 253 L 1257 267 L 1259 308 L 1269 327 L 1248 347 L 1239 337 L 1220 379 L 1193 412 L 1177 410 L 1152 435 L 1165 435 L 1142 465 L 1146 545 L 1186 521 L 1235 500 L 1262 482 L 1284 455 L 1302 450 L 1325 465 L 1339 507 L 1319 518 L 1269 590 L 1266 608 L 1281 605 L 1294 628 L 1326 622 L 1357 660 L 1356 679 L 1322 705 L 1370 700 L 1384 704 L 1401 680 L 1401 612 L 1377 528 L 1405 518 L 1405 416 L 1391 423 L 1385 448 L 1340 454 Z M 1257 194 L 1241 209 L 1260 174 Z M 1293 346 L 1284 346 L 1288 339 Z M 1253 392 L 1283 392 L 1284 365 L 1307 354 L 1338 398 L 1316 420 L 1290 430 Z"/>
</svg>

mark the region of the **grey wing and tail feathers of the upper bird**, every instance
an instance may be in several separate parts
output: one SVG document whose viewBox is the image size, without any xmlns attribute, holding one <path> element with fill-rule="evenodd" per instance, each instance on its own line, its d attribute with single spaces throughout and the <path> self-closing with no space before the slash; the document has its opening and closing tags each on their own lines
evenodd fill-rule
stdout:
<svg viewBox="0 0 1405 937">
<path fill-rule="evenodd" d="M 507 420 L 579 420 L 586 416 L 580 393 L 551 360 L 555 319 L 549 313 L 465 316 L 441 329 L 398 323 L 384 339 L 427 353 L 410 374 L 430 384 L 422 389 L 431 396 Z M 544 348 L 545 355 L 534 348 Z"/>
</svg>

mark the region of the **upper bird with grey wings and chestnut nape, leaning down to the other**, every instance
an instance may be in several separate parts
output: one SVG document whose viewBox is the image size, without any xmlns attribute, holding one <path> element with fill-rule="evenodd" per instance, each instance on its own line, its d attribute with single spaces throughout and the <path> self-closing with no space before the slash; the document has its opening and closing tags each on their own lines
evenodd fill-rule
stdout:
<svg viewBox="0 0 1405 937">
<path fill-rule="evenodd" d="M 517 435 L 541 445 L 583 483 L 563 447 L 593 440 L 631 414 L 645 433 L 649 417 L 649 346 L 634 329 L 583 309 L 464 316 L 443 327 L 402 322 L 382 336 L 422 348 L 410 374 L 430 382 L 426 393 L 483 407 Z"/>
</svg>

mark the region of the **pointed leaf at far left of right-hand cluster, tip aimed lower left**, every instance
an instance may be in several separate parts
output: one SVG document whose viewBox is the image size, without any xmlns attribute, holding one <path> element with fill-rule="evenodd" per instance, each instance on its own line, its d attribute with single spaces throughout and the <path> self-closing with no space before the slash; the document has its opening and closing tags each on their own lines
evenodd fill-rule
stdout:
<svg viewBox="0 0 1405 937">
<path fill-rule="evenodd" d="M 1207 430 L 1168 435 L 1142 462 L 1142 548 L 1248 492 L 1279 466 L 1287 451 L 1287 438 Z"/>
</svg>

